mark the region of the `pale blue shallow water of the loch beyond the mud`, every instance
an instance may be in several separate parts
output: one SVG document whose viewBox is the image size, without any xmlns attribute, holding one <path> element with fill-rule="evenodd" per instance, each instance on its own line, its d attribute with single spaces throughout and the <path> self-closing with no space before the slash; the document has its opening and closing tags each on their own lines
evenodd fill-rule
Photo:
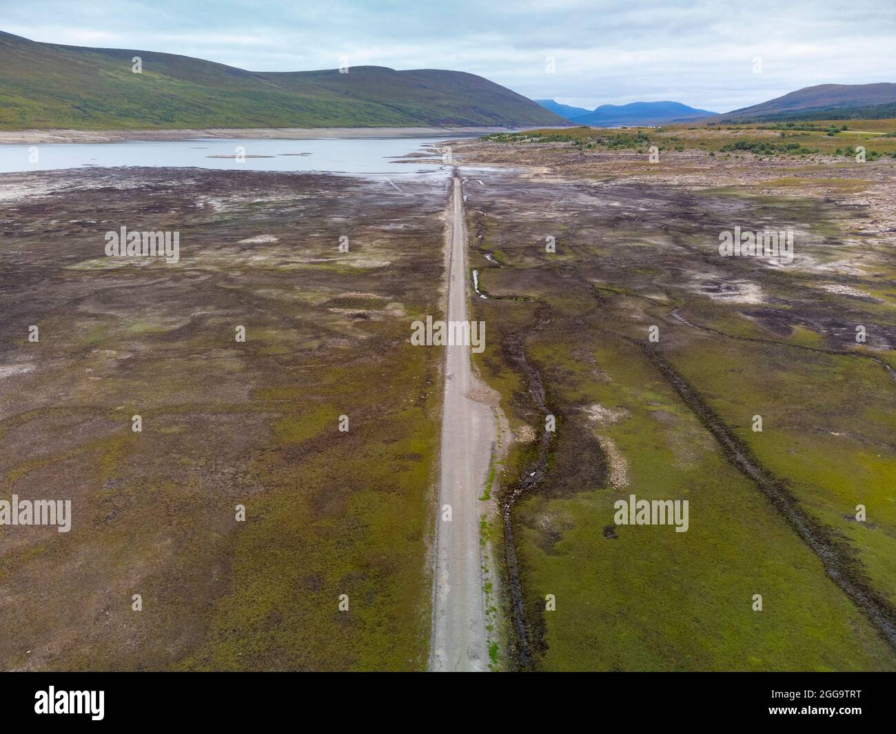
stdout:
<svg viewBox="0 0 896 734">
<path fill-rule="evenodd" d="M 0 173 L 86 166 L 159 166 L 258 171 L 415 174 L 437 169 L 432 163 L 400 163 L 408 153 L 433 154 L 452 136 L 420 138 L 322 138 L 317 140 L 218 140 L 67 142 L 0 145 Z M 37 153 L 37 160 L 34 153 Z M 210 158 L 236 156 L 246 160 Z M 250 156 L 265 156 L 251 158 Z M 434 156 L 437 157 L 437 154 Z"/>
</svg>

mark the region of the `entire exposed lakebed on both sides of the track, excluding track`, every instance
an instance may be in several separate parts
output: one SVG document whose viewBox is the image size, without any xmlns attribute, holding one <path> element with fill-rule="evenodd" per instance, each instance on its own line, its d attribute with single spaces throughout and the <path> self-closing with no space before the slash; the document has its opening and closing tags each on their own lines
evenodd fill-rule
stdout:
<svg viewBox="0 0 896 734">
<path fill-rule="evenodd" d="M 524 438 L 501 660 L 896 668 L 892 164 L 452 150 L 487 166 L 474 367 Z M 444 297 L 448 181 L 2 183 L 0 498 L 71 498 L 73 530 L 0 530 L 0 666 L 424 668 L 443 355 L 408 335 Z M 106 257 L 122 225 L 180 261 Z M 793 231 L 793 262 L 719 256 L 735 226 Z M 687 499 L 689 530 L 617 525 L 631 494 Z"/>
</svg>

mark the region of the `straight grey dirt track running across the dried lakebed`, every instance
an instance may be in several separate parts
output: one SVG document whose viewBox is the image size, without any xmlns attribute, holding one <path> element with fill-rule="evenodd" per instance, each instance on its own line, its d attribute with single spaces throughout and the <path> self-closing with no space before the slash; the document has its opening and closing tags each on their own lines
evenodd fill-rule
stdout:
<svg viewBox="0 0 896 734">
<path fill-rule="evenodd" d="M 467 237 L 461 179 L 452 182 L 448 321 L 467 320 Z M 486 341 L 486 344 L 488 341 Z M 495 438 L 491 409 L 470 400 L 476 385 L 470 346 L 444 347 L 445 391 L 439 508 L 436 519 L 432 652 L 435 671 L 486 670 L 488 665 L 479 503 Z M 452 519 L 446 522 L 445 505 Z"/>
</svg>

